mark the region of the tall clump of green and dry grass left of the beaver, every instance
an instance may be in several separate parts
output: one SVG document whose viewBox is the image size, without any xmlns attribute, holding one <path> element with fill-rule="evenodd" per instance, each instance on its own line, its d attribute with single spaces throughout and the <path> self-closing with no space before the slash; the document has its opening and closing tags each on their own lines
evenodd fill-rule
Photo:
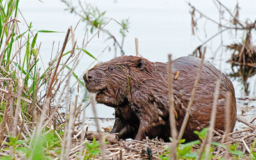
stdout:
<svg viewBox="0 0 256 160">
<path fill-rule="evenodd" d="M 49 59 L 45 69 L 40 69 L 37 38 L 40 34 L 58 32 L 33 31 L 33 25 L 29 23 L 28 29 L 20 33 L 18 6 L 17 0 L 0 3 L 0 159 L 51 159 L 59 156 L 67 159 L 74 131 L 72 126 L 84 110 L 77 96 L 68 103 L 70 77 L 85 87 L 74 69 L 82 54 L 95 57 L 84 49 L 87 44 L 78 47 L 75 41 L 71 41 L 75 29 L 70 27 L 61 50 Z M 67 43 L 71 43 L 72 50 L 65 50 Z M 66 76 L 60 76 L 63 73 Z M 61 96 L 66 91 L 66 96 Z M 66 104 L 67 112 L 61 115 L 63 104 Z"/>
</svg>

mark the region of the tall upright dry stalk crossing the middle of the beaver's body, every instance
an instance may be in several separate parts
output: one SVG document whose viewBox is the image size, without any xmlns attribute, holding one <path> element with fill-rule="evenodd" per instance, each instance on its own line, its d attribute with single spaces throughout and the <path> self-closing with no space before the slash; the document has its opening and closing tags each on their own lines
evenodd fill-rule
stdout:
<svg viewBox="0 0 256 160">
<path fill-rule="evenodd" d="M 172 55 L 168 55 L 168 89 L 169 89 L 169 120 L 170 129 L 172 133 L 172 144 L 170 146 L 170 159 L 176 159 L 176 146 L 177 146 L 177 128 L 175 120 L 173 84 L 172 84 Z"/>
</svg>

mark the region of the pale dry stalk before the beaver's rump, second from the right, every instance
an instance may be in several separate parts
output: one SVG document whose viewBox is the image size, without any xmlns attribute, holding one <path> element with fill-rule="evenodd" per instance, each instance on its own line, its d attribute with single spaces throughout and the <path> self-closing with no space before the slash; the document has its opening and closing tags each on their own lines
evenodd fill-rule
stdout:
<svg viewBox="0 0 256 160">
<path fill-rule="evenodd" d="M 211 140 L 212 140 L 212 132 L 215 126 L 215 119 L 216 119 L 216 113 L 217 113 L 217 103 L 218 98 L 220 94 L 220 81 L 216 82 L 216 87 L 214 91 L 214 100 L 213 100 L 213 106 L 211 111 L 211 120 L 210 120 L 210 126 L 206 135 L 207 143 L 205 148 L 205 159 L 208 159 L 209 153 L 210 153 L 210 147 L 211 147 Z M 204 150 L 204 148 L 202 149 Z"/>
</svg>

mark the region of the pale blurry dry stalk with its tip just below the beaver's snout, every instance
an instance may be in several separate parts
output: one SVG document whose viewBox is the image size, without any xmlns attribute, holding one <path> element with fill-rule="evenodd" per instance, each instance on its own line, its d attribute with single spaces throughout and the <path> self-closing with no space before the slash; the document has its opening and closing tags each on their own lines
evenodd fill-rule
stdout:
<svg viewBox="0 0 256 160">
<path fill-rule="evenodd" d="M 105 151 L 104 151 L 104 146 L 105 145 L 104 145 L 102 134 L 100 132 L 100 125 L 99 125 L 98 117 L 97 117 L 95 96 L 92 93 L 90 93 L 90 99 L 91 99 L 91 103 L 92 103 L 92 110 L 93 110 L 93 115 L 94 115 L 94 118 L 95 118 L 95 123 L 96 123 L 96 126 L 97 126 L 97 132 L 99 134 L 101 156 L 102 156 L 102 159 L 106 159 Z"/>
</svg>

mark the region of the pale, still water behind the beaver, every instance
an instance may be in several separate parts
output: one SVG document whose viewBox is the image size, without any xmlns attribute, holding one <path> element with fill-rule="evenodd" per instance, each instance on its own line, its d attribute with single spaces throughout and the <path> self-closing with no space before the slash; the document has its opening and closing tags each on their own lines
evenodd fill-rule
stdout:
<svg viewBox="0 0 256 160">
<path fill-rule="evenodd" d="M 75 1 L 73 1 L 75 3 Z M 106 10 L 106 15 L 110 18 L 113 17 L 120 21 L 124 18 L 129 18 L 131 24 L 127 38 L 125 38 L 124 50 L 127 55 L 135 55 L 134 38 L 139 39 L 139 52 L 143 57 L 150 61 L 167 61 L 167 54 L 172 54 L 173 58 L 186 56 L 191 54 L 198 45 L 201 45 L 207 38 L 218 32 L 218 26 L 205 20 L 198 21 L 199 26 L 204 26 L 207 33 L 204 32 L 204 27 L 200 27 L 197 31 L 197 36 L 191 36 L 191 10 L 185 1 L 124 1 L 124 0 L 94 0 L 88 1 L 92 5 L 95 5 L 99 10 Z M 193 5 L 196 6 L 202 13 L 205 13 L 208 17 L 214 18 L 218 21 L 218 10 L 216 9 L 212 1 L 193 1 Z M 234 9 L 236 1 L 228 0 L 225 4 L 230 9 Z M 246 20 L 256 18 L 256 1 L 239 1 L 241 6 L 240 18 Z M 65 38 L 65 32 L 71 25 L 77 24 L 79 17 L 74 14 L 70 14 L 64 9 L 67 8 L 61 1 L 44 0 L 44 3 L 35 0 L 20 1 L 20 11 L 24 15 L 26 21 L 33 22 L 33 29 L 36 30 L 51 30 L 60 31 L 63 33 L 50 33 L 39 34 L 38 41 L 42 41 L 40 53 L 42 55 L 42 64 L 49 62 L 51 55 L 52 43 L 55 41 L 54 52 L 58 49 L 58 43 L 62 44 Z M 21 19 L 21 16 L 20 16 Z M 21 29 L 26 29 L 26 24 L 22 22 Z M 111 31 L 114 35 L 119 35 L 120 25 L 111 21 L 106 29 Z M 77 43 L 81 46 L 83 36 L 86 31 L 85 24 L 79 24 L 76 31 Z M 205 37 L 207 35 L 207 38 Z M 224 45 L 229 45 L 231 42 L 241 40 L 243 33 L 237 33 L 237 36 L 231 36 L 228 32 L 223 33 Z M 234 34 L 233 34 L 234 35 Z M 120 36 L 116 36 L 120 40 Z M 102 50 L 109 45 L 112 47 L 113 41 L 105 41 L 108 36 L 100 33 L 99 38 L 94 38 L 86 50 L 95 55 L 99 55 Z M 214 66 L 221 69 L 224 73 L 230 72 L 230 64 L 225 63 L 230 52 L 223 50 L 223 55 L 216 55 L 216 48 L 220 45 L 220 36 L 213 41 L 207 43 L 207 60 L 211 61 Z M 71 50 L 70 46 L 67 46 L 67 50 Z M 220 52 L 220 50 L 219 50 Z M 219 53 L 218 52 L 218 53 Z M 102 56 L 99 57 L 100 61 L 108 61 L 114 57 L 113 47 L 109 51 L 107 50 Z M 211 57 L 215 57 L 211 59 Z M 76 74 L 83 75 L 84 70 L 93 61 L 88 56 L 83 56 L 79 66 L 77 66 Z M 236 96 L 243 97 L 241 92 L 242 84 L 237 80 L 232 80 L 235 89 Z M 255 95 L 255 79 L 250 78 L 252 95 Z M 83 95 L 79 95 L 80 97 Z M 253 106 L 253 105 L 252 105 Z M 255 105 L 254 105 L 255 106 Z M 251 106 L 250 106 L 251 107 Z M 253 108 L 253 107 L 252 107 Z M 254 107 L 256 108 L 256 107 Z M 97 106 L 99 117 L 113 117 L 113 108 L 106 107 L 104 105 Z M 240 110 L 240 108 L 239 108 Z M 255 113 L 256 111 L 250 111 Z M 241 112 L 239 111 L 239 114 Z M 254 115 L 255 115 L 254 114 Z M 87 109 L 87 117 L 92 117 L 92 110 Z M 253 117 L 253 115 L 252 115 Z"/>
</svg>

